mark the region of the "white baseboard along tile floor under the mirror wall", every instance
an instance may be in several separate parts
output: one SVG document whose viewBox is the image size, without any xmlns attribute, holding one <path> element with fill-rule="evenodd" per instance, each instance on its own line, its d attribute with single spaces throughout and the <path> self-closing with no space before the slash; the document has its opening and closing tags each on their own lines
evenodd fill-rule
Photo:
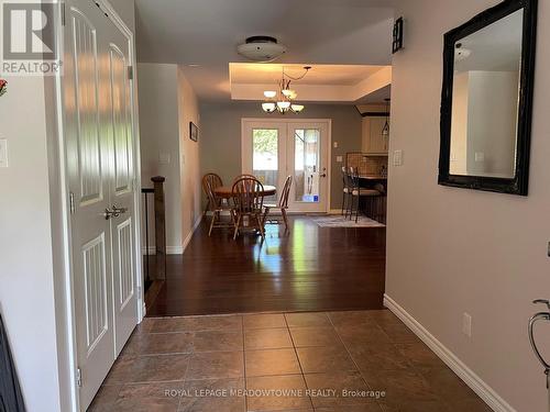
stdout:
<svg viewBox="0 0 550 412">
<path fill-rule="evenodd" d="M 399 318 L 431 350 L 449 366 L 477 396 L 496 412 L 517 412 L 493 388 L 483 381 L 457 355 L 424 327 L 395 300 L 384 294 L 384 305 Z"/>
</svg>

